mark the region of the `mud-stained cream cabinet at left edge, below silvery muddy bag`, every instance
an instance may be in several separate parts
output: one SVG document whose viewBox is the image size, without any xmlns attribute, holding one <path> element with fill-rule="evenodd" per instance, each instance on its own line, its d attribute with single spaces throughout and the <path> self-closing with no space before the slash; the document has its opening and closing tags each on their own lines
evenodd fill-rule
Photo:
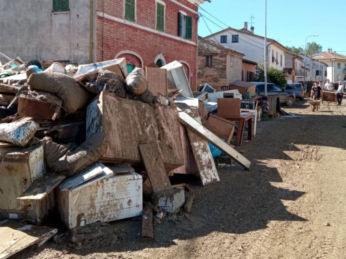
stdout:
<svg viewBox="0 0 346 259">
<path fill-rule="evenodd" d="M 45 204 L 49 199 L 43 199 L 36 206 L 28 200 L 17 200 L 31 184 L 44 176 L 43 146 L 31 148 L 10 147 L 0 152 L 0 212 L 5 217 L 20 220 L 22 217 L 40 221 L 38 214 L 45 216 L 48 210 L 43 207 L 54 207 L 54 204 Z M 45 204 L 45 205 L 43 205 Z"/>
</svg>

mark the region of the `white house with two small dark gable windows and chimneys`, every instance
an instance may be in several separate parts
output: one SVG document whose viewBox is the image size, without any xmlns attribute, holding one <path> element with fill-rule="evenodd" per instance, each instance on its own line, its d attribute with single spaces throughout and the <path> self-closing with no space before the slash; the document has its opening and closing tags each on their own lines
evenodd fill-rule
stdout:
<svg viewBox="0 0 346 259">
<path fill-rule="evenodd" d="M 227 28 L 206 37 L 221 45 L 245 54 L 246 59 L 262 62 L 264 60 L 264 37 L 254 34 L 254 27 L 243 29 Z M 285 52 L 288 51 L 276 40 L 267 38 L 269 66 L 283 70 L 285 66 Z"/>
</svg>

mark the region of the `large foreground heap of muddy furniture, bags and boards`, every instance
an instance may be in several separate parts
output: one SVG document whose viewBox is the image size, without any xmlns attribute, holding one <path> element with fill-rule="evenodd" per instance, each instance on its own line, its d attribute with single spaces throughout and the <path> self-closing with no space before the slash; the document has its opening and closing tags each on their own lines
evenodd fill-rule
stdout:
<svg viewBox="0 0 346 259">
<path fill-rule="evenodd" d="M 0 253 L 10 256 L 54 236 L 56 229 L 14 222 L 40 225 L 54 208 L 78 243 L 103 223 L 90 224 L 139 215 L 143 237 L 153 238 L 153 210 L 191 211 L 193 193 L 185 197 L 184 186 L 172 186 L 169 176 L 198 175 L 204 186 L 219 181 L 210 145 L 249 169 L 244 156 L 202 125 L 203 102 L 179 102 L 193 97 L 179 62 L 162 68 L 151 63 L 129 74 L 125 58 L 57 72 L 61 67 L 26 67 L 18 74 L 24 79 L 0 79 L 6 105 L 0 234 L 8 236 Z M 107 235 L 101 232 L 97 238 Z M 17 244 L 19 236 L 25 242 Z"/>
</svg>

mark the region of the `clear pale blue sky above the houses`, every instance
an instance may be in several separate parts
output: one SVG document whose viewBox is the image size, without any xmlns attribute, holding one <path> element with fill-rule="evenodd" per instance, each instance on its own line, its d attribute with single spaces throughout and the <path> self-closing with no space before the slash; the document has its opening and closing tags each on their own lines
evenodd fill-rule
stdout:
<svg viewBox="0 0 346 259">
<path fill-rule="evenodd" d="M 255 17 L 255 34 L 264 36 L 264 2 L 265 0 L 211 0 L 211 3 L 204 2 L 200 7 L 236 29 L 243 28 L 245 21 L 250 28 L 252 15 Z M 304 47 L 307 36 L 318 34 L 318 37 L 308 38 L 307 42 L 315 41 L 324 51 L 332 48 L 333 51 L 346 55 L 345 8 L 345 0 L 267 0 L 267 37 L 284 46 Z M 222 28 L 227 27 L 205 11 L 199 11 Z M 206 18 L 204 20 L 212 33 L 221 30 Z M 198 23 L 198 34 L 210 35 L 202 18 Z"/>
</svg>

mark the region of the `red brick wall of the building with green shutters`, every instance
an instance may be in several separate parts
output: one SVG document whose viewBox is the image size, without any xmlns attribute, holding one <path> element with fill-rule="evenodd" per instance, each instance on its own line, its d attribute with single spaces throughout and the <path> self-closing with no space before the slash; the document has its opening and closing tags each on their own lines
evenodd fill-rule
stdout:
<svg viewBox="0 0 346 259">
<path fill-rule="evenodd" d="M 134 52 L 143 59 L 144 65 L 150 63 L 161 53 L 166 64 L 174 60 L 185 61 L 190 66 L 191 87 L 197 87 L 197 23 L 194 13 L 169 1 L 165 2 L 165 33 L 178 37 L 178 13 L 185 12 L 192 17 L 192 39 L 187 43 L 179 39 L 172 39 L 166 34 L 150 32 L 137 26 L 155 28 L 155 0 L 137 0 L 136 23 L 127 25 L 123 19 L 124 0 L 98 0 L 97 11 L 104 12 L 113 19 L 97 16 L 96 18 L 96 57 L 98 61 L 113 59 L 121 51 Z M 197 11 L 186 0 L 179 0 L 189 8 Z M 121 57 L 126 55 L 121 55 Z M 189 77 L 189 75 L 188 75 Z"/>
</svg>

